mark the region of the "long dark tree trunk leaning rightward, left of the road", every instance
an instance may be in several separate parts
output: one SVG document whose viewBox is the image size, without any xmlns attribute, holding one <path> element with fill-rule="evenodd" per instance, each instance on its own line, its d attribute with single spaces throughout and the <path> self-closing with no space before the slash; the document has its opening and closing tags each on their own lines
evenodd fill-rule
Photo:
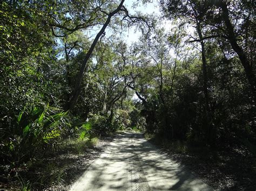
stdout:
<svg viewBox="0 0 256 191">
<path fill-rule="evenodd" d="M 82 82 L 82 79 L 83 79 L 84 70 L 85 70 L 85 68 L 87 66 L 88 60 L 90 59 L 92 51 L 95 48 L 95 46 L 96 46 L 100 36 L 102 36 L 102 34 L 105 32 L 105 29 L 106 29 L 107 25 L 109 25 L 112 16 L 114 16 L 117 12 L 119 12 L 121 10 L 121 8 L 123 6 L 123 3 L 124 3 L 124 0 L 122 0 L 120 2 L 120 4 L 118 5 L 118 8 L 116 10 L 112 11 L 111 13 L 109 13 L 109 15 L 108 15 L 108 17 L 106 19 L 106 22 L 102 26 L 102 29 L 100 29 L 100 31 L 96 35 L 95 39 L 93 40 L 93 43 L 91 44 L 91 47 L 90 47 L 89 51 L 86 53 L 85 58 L 84 58 L 84 60 L 82 62 L 82 66 L 80 67 L 79 72 L 77 74 L 77 78 L 76 78 L 76 82 L 75 82 L 75 87 L 73 89 L 70 101 L 69 101 L 66 109 L 69 110 L 69 109 L 73 109 L 75 107 L 77 99 L 78 99 L 78 96 L 79 96 L 79 93 L 80 93 L 80 86 L 81 86 L 81 82 Z"/>
</svg>

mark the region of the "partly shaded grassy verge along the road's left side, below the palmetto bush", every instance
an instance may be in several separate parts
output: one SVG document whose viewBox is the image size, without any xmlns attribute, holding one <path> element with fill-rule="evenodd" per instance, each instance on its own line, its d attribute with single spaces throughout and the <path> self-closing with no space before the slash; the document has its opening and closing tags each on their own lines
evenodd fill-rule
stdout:
<svg viewBox="0 0 256 191">
<path fill-rule="evenodd" d="M 62 141 L 58 143 L 58 150 L 55 152 L 45 151 L 46 154 L 38 155 L 13 169 L 12 171 L 16 171 L 14 172 L 16 175 L 10 176 L 6 180 L 5 187 L 19 190 L 45 189 L 50 185 L 69 181 L 70 177 L 68 177 L 67 171 L 70 166 L 72 167 L 72 164 L 75 165 L 74 162 L 79 162 L 84 158 L 88 152 L 87 148 L 96 147 L 98 143 L 97 137 Z"/>
</svg>

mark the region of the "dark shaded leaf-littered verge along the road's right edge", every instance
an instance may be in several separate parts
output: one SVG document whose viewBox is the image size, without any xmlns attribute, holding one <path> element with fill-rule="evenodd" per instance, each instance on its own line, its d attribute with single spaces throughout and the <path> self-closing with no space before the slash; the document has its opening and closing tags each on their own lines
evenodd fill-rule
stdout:
<svg viewBox="0 0 256 191">
<path fill-rule="evenodd" d="M 210 147 L 144 133 L 149 142 L 164 148 L 173 160 L 186 165 L 214 189 L 253 190 L 256 160 L 250 148 L 239 142 L 232 146 Z M 234 143 L 234 141 L 233 141 Z"/>
</svg>

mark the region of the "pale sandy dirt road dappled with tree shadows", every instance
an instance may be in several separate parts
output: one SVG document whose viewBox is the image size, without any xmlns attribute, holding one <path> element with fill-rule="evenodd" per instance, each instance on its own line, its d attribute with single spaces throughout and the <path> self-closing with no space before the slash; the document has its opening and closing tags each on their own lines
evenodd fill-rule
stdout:
<svg viewBox="0 0 256 191">
<path fill-rule="evenodd" d="M 71 190 L 212 190 L 141 133 L 125 132 L 111 142 Z"/>
</svg>

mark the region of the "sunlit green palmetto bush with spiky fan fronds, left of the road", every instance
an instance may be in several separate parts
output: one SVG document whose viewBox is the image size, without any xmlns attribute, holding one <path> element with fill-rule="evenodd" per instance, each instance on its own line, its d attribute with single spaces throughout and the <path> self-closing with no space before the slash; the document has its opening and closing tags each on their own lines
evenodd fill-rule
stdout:
<svg viewBox="0 0 256 191">
<path fill-rule="evenodd" d="M 2 133 L 3 162 L 20 163 L 34 157 L 45 146 L 64 135 L 70 127 L 67 112 L 30 105 L 17 116 L 16 124 Z"/>
</svg>

